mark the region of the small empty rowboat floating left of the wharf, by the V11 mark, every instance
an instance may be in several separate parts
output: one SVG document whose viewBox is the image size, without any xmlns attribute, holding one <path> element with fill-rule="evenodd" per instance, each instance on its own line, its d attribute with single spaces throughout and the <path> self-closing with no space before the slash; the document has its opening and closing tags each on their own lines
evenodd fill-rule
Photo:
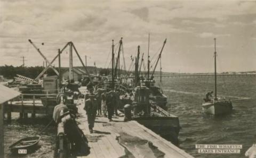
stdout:
<svg viewBox="0 0 256 158">
<path fill-rule="evenodd" d="M 26 137 L 9 146 L 12 153 L 27 154 L 36 150 L 36 146 L 40 141 L 40 136 Z"/>
</svg>

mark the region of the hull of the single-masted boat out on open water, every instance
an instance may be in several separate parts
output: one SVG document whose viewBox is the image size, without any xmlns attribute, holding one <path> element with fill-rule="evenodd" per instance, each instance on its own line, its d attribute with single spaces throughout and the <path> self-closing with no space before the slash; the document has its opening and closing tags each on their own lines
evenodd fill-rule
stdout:
<svg viewBox="0 0 256 158">
<path fill-rule="evenodd" d="M 223 115 L 231 113 L 233 110 L 232 103 L 229 101 L 206 102 L 202 105 L 203 111 L 212 115 Z"/>
</svg>

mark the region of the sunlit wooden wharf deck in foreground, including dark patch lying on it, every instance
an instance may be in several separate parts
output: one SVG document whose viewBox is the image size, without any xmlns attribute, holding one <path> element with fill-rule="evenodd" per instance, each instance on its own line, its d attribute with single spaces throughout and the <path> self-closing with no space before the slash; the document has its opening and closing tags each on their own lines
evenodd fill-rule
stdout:
<svg viewBox="0 0 256 158">
<path fill-rule="evenodd" d="M 77 118 L 78 126 L 83 130 L 89 141 L 89 146 L 91 147 L 89 155 L 77 156 L 78 158 L 193 157 L 173 145 L 171 142 L 166 141 L 161 136 L 155 134 L 150 129 L 140 125 L 137 121 L 132 120 L 124 122 L 123 116 L 114 116 L 113 121 L 111 122 L 109 122 L 108 118 L 104 116 L 97 116 L 95 119 L 93 133 L 90 134 L 86 112 L 83 110 L 84 102 L 79 100 L 77 105 L 78 113 L 80 115 Z M 126 142 L 122 141 L 123 136 L 126 137 Z M 118 140 L 119 142 L 123 142 L 123 144 L 119 144 Z M 148 147 L 150 146 L 149 144 L 154 147 Z"/>
</svg>

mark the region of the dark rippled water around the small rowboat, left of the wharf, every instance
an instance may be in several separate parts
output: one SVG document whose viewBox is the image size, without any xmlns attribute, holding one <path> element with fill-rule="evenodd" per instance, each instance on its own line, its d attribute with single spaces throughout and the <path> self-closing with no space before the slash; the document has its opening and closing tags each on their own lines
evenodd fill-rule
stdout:
<svg viewBox="0 0 256 158">
<path fill-rule="evenodd" d="M 53 157 L 55 148 L 55 136 L 57 133 L 57 127 L 54 126 L 54 122 L 46 128 L 41 136 L 41 140 L 38 145 L 39 148 L 34 153 L 27 155 L 13 155 L 8 147 L 17 142 L 21 138 L 35 136 L 40 133 L 44 127 L 49 124 L 51 117 L 37 116 L 36 119 L 18 120 L 18 113 L 12 113 L 11 124 L 4 125 L 4 154 L 5 157 Z"/>
</svg>

